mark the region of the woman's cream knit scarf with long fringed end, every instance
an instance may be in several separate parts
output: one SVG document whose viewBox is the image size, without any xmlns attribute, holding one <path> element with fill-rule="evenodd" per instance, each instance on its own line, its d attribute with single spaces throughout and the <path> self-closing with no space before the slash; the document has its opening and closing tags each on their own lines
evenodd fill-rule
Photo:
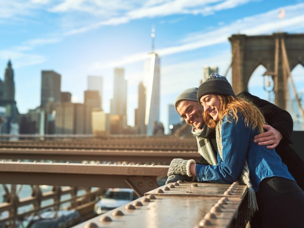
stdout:
<svg viewBox="0 0 304 228">
<path fill-rule="evenodd" d="M 219 155 L 223 160 L 222 120 L 219 120 L 216 124 L 216 143 L 217 143 L 217 148 L 219 150 Z M 239 209 L 239 214 L 237 218 L 237 225 L 241 227 L 244 226 L 244 224 L 246 224 L 248 221 L 250 221 L 251 216 L 253 216 L 254 212 L 258 210 L 257 200 L 255 198 L 255 192 L 252 188 L 249 178 L 249 167 L 247 164 L 247 160 L 245 160 L 245 165 L 242 170 L 242 173 L 240 174 L 238 182 L 248 186 L 247 188 L 248 197 L 246 197 L 248 199 L 248 202 L 242 203 L 243 205 L 245 205 L 245 207 L 243 206 L 242 208 Z"/>
</svg>

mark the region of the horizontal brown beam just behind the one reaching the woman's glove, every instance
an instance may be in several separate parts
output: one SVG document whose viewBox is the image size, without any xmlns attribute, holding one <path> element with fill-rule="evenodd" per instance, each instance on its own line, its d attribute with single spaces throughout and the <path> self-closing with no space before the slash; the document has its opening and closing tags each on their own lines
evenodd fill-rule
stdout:
<svg viewBox="0 0 304 228">
<path fill-rule="evenodd" d="M 199 161 L 201 156 L 193 151 L 163 150 L 80 150 L 80 149 L 23 149 L 0 148 L 0 159 L 65 160 L 65 161 L 126 161 L 170 163 L 173 158 Z"/>
</svg>

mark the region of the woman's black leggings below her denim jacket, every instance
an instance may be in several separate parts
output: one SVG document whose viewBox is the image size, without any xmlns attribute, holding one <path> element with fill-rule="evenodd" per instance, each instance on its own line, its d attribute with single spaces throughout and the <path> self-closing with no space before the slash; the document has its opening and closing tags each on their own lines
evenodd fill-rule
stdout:
<svg viewBox="0 0 304 228">
<path fill-rule="evenodd" d="M 304 192 L 294 181 L 266 178 L 256 197 L 259 210 L 251 218 L 252 228 L 304 227 Z"/>
</svg>

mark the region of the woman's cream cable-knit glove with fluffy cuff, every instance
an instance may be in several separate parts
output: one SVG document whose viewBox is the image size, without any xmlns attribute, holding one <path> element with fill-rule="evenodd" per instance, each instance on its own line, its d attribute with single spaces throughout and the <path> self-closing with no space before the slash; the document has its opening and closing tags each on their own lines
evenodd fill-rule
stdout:
<svg viewBox="0 0 304 228">
<path fill-rule="evenodd" d="M 168 176 L 179 174 L 184 175 L 188 177 L 192 177 L 192 174 L 190 173 L 190 164 L 194 163 L 195 161 L 193 159 L 191 160 L 184 160 L 181 158 L 174 158 L 171 163 L 168 170 Z"/>
</svg>

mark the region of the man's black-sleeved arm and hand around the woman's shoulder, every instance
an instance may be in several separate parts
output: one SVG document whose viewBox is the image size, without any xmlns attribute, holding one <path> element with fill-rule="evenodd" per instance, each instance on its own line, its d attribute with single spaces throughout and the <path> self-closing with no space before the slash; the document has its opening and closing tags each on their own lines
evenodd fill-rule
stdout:
<svg viewBox="0 0 304 228">
<path fill-rule="evenodd" d="M 265 126 L 267 132 L 260 134 L 257 136 L 257 142 L 267 142 L 269 141 L 269 134 L 272 134 L 272 137 L 275 136 L 277 142 L 281 141 L 280 143 L 291 143 L 290 136 L 292 134 L 293 129 L 293 121 L 290 114 L 279 108 L 278 106 L 263 100 L 257 96 L 251 95 L 248 92 L 241 92 L 237 96 L 243 96 L 245 98 L 250 98 L 255 105 L 261 110 L 263 113 L 265 120 L 268 126 Z M 279 133 L 282 134 L 282 140 L 279 140 L 279 134 L 275 130 L 278 130 Z M 264 138 L 266 137 L 266 138 Z M 268 138 L 267 138 L 268 137 Z M 266 141 L 265 141 L 266 140 Z M 275 143 L 276 145 L 278 143 Z M 261 145 L 267 145 L 267 143 L 261 143 Z M 273 147 L 274 148 L 274 147 Z"/>
</svg>

